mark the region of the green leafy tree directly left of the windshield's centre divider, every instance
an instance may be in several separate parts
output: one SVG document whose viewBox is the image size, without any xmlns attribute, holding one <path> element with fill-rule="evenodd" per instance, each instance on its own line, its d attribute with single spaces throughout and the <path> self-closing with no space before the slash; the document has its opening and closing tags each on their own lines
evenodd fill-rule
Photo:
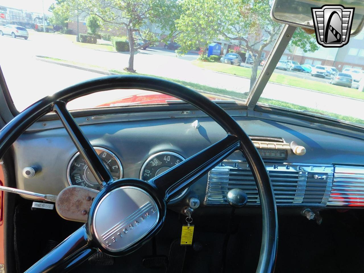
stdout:
<svg viewBox="0 0 364 273">
<path fill-rule="evenodd" d="M 282 29 L 282 24 L 270 18 L 270 0 L 184 0 L 182 13 L 176 20 L 181 45 L 179 53 L 192 48 L 205 48 L 221 37 L 249 51 L 253 59 L 250 89 L 257 79 L 258 65 L 263 50 L 272 45 Z M 318 49 L 314 36 L 301 29 L 293 36 L 293 43 L 304 50 Z M 296 40 L 296 41 L 294 41 Z"/>
</svg>

